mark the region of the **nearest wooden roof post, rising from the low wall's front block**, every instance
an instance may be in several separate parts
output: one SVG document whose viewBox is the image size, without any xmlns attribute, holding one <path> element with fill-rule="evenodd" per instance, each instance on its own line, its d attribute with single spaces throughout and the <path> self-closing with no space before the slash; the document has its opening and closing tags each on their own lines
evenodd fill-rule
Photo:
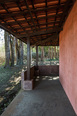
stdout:
<svg viewBox="0 0 77 116">
<path fill-rule="evenodd" d="M 27 37 L 27 80 L 30 80 L 30 38 Z"/>
</svg>

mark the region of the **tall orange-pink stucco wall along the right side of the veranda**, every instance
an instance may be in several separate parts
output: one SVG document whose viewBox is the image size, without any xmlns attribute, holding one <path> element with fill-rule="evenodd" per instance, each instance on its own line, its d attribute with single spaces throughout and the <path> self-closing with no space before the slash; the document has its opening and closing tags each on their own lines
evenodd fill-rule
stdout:
<svg viewBox="0 0 77 116">
<path fill-rule="evenodd" d="M 77 114 L 77 1 L 60 32 L 60 82 Z"/>
</svg>

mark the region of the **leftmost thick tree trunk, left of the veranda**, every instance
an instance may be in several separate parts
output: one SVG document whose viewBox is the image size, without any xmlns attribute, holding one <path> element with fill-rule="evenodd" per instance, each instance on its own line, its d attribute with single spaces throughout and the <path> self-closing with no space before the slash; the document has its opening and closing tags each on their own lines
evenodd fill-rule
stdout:
<svg viewBox="0 0 77 116">
<path fill-rule="evenodd" d="M 5 31 L 4 34 L 5 37 L 5 67 L 10 67 L 10 39 L 9 39 L 9 33 Z"/>
</svg>

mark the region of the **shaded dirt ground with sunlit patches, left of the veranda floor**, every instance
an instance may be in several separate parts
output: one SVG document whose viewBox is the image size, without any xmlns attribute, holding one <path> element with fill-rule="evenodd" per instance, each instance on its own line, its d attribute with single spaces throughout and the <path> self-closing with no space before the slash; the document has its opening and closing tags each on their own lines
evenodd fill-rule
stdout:
<svg viewBox="0 0 77 116">
<path fill-rule="evenodd" d="M 7 69 L 0 66 L 0 114 L 21 89 L 21 71 L 24 69 L 26 69 L 25 66 L 15 66 Z"/>
</svg>

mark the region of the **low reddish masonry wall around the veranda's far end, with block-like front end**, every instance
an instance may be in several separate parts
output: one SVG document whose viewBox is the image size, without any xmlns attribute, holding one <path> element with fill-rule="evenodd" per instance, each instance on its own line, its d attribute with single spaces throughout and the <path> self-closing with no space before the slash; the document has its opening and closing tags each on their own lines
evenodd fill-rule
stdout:
<svg viewBox="0 0 77 116">
<path fill-rule="evenodd" d="M 59 65 L 48 65 L 48 66 L 34 66 L 30 68 L 30 80 L 27 80 L 27 70 L 21 74 L 21 88 L 23 90 L 32 90 L 34 77 L 37 76 L 58 76 Z"/>
</svg>

